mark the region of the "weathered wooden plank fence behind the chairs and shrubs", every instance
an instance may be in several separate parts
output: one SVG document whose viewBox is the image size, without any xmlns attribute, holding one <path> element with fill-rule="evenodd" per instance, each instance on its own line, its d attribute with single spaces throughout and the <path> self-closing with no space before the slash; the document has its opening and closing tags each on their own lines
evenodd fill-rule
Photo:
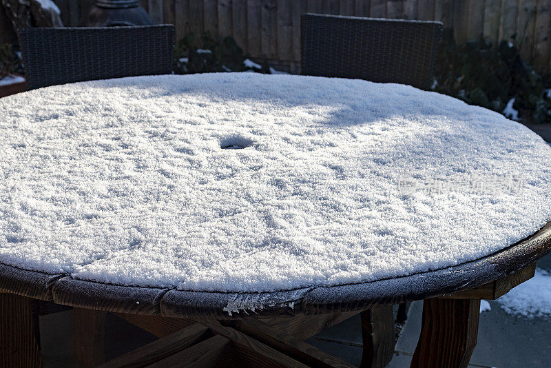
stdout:
<svg viewBox="0 0 551 368">
<path fill-rule="evenodd" d="M 66 25 L 79 25 L 93 0 L 54 0 Z M 551 72 L 551 0 L 141 0 L 156 23 L 184 34 L 233 36 L 256 59 L 300 62 L 300 14 L 439 20 L 458 42 L 511 39 L 541 72 Z"/>
</svg>

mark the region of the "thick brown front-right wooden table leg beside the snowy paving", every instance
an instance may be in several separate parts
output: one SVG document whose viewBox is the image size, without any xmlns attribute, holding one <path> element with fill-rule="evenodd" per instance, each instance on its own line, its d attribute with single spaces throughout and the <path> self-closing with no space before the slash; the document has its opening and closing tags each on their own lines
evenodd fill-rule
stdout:
<svg viewBox="0 0 551 368">
<path fill-rule="evenodd" d="M 424 300 L 411 367 L 467 367 L 477 345 L 479 310 L 479 299 Z"/>
</svg>

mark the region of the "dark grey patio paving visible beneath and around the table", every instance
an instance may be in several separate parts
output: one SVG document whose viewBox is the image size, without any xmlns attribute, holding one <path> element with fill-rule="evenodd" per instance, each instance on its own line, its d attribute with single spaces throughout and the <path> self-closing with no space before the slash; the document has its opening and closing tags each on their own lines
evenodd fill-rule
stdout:
<svg viewBox="0 0 551 368">
<path fill-rule="evenodd" d="M 551 142 L 551 124 L 529 126 Z M 551 254 L 537 263 L 551 271 Z M 411 305 L 408 320 L 388 367 L 409 367 L 421 330 L 422 302 Z M 547 368 L 551 362 L 551 316 L 526 318 L 507 314 L 499 304 L 490 301 L 492 309 L 480 315 L 478 343 L 469 367 L 533 367 Z M 46 368 L 79 367 L 74 362 L 70 345 L 72 311 L 41 316 L 41 344 Z M 147 332 L 116 316 L 107 318 L 105 358 L 112 359 L 155 340 Z M 309 339 L 311 345 L 342 360 L 359 365 L 362 358 L 360 318 L 356 316 Z"/>
</svg>

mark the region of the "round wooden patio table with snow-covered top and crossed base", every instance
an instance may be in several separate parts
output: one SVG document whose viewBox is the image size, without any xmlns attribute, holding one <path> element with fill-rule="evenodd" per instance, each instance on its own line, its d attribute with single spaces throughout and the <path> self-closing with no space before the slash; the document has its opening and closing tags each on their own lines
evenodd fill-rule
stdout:
<svg viewBox="0 0 551 368">
<path fill-rule="evenodd" d="M 41 365 L 36 311 L 66 305 L 86 365 L 113 312 L 161 339 L 110 367 L 346 367 L 302 340 L 360 313 L 382 366 L 425 300 L 412 367 L 466 367 L 480 300 L 551 249 L 551 148 L 410 86 L 143 76 L 0 113 L 2 365 Z"/>
</svg>

